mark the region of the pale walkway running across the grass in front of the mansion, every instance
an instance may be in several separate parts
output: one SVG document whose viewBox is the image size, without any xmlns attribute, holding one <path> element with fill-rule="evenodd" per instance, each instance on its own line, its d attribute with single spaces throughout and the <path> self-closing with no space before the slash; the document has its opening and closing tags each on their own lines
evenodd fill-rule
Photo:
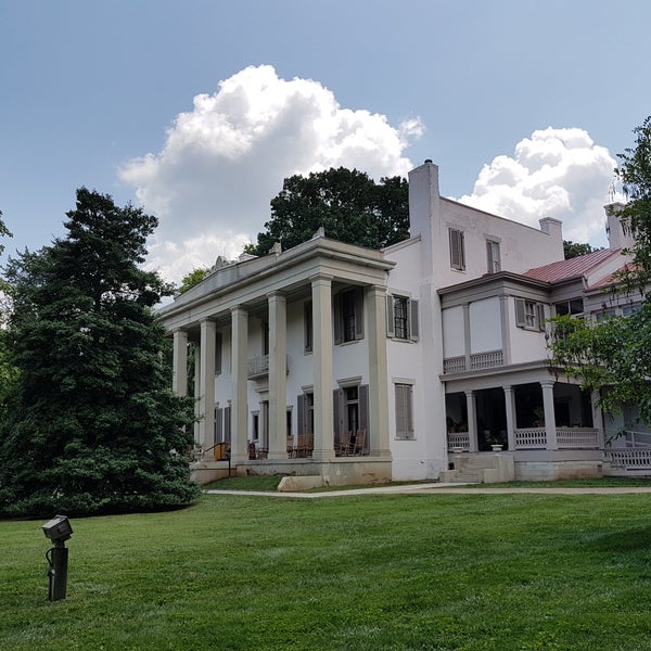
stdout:
<svg viewBox="0 0 651 651">
<path fill-rule="evenodd" d="M 321 499 L 327 497 L 348 497 L 353 495 L 510 495 L 510 494 L 537 494 L 537 495 L 630 495 L 636 493 L 651 493 L 651 486 L 613 486 L 601 488 L 599 486 L 582 486 L 576 488 L 562 487 L 518 487 L 518 488 L 490 488 L 468 487 L 468 484 L 405 484 L 401 486 L 372 486 L 369 488 L 352 488 L 349 490 L 323 490 L 320 493 L 280 493 L 264 490 L 205 490 L 207 495 L 254 495 L 257 497 L 291 497 L 297 499 Z"/>
</svg>

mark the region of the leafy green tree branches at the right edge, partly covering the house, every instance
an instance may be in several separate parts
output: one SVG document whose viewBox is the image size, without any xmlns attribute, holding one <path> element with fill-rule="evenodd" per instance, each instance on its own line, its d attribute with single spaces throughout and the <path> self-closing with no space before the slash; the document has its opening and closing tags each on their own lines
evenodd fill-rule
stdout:
<svg viewBox="0 0 651 651">
<path fill-rule="evenodd" d="M 596 324 L 559 317 L 551 349 L 553 363 L 579 375 L 586 388 L 603 388 L 603 409 L 617 412 L 624 404 L 637 405 L 640 418 L 651 422 L 651 302 L 646 293 L 651 281 L 651 116 L 634 133 L 636 145 L 618 155 L 615 170 L 628 199 L 620 218 L 635 234 L 634 264 L 618 277 L 616 291 L 641 293 L 641 309 Z"/>
</svg>

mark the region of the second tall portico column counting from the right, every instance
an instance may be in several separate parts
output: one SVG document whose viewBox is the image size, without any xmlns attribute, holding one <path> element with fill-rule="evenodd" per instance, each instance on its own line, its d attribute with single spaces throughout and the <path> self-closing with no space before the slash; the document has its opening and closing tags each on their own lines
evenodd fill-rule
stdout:
<svg viewBox="0 0 651 651">
<path fill-rule="evenodd" d="M 315 449 L 319 461 L 334 459 L 332 414 L 332 276 L 310 278 L 315 370 Z"/>
</svg>

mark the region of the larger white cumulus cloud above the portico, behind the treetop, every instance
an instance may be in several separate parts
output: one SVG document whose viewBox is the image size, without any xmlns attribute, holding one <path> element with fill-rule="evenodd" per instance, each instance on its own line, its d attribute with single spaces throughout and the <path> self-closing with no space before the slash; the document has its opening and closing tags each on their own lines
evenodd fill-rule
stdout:
<svg viewBox="0 0 651 651">
<path fill-rule="evenodd" d="M 339 166 L 406 176 L 403 152 L 422 133 L 418 118 L 393 127 L 384 115 L 343 108 L 318 81 L 284 80 L 260 65 L 196 95 L 163 150 L 129 161 L 119 177 L 159 219 L 150 264 L 178 282 L 255 241 L 285 177 Z"/>
</svg>

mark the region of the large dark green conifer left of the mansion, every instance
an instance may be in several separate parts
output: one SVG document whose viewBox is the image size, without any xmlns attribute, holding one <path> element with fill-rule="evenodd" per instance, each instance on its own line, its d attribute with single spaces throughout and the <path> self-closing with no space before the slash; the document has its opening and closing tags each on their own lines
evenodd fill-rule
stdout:
<svg viewBox="0 0 651 651">
<path fill-rule="evenodd" d="M 140 265 L 156 219 L 77 191 L 67 237 L 10 259 L 0 512 L 126 512 L 193 501 L 192 403 L 175 396 L 153 307 L 171 288 Z"/>
</svg>

